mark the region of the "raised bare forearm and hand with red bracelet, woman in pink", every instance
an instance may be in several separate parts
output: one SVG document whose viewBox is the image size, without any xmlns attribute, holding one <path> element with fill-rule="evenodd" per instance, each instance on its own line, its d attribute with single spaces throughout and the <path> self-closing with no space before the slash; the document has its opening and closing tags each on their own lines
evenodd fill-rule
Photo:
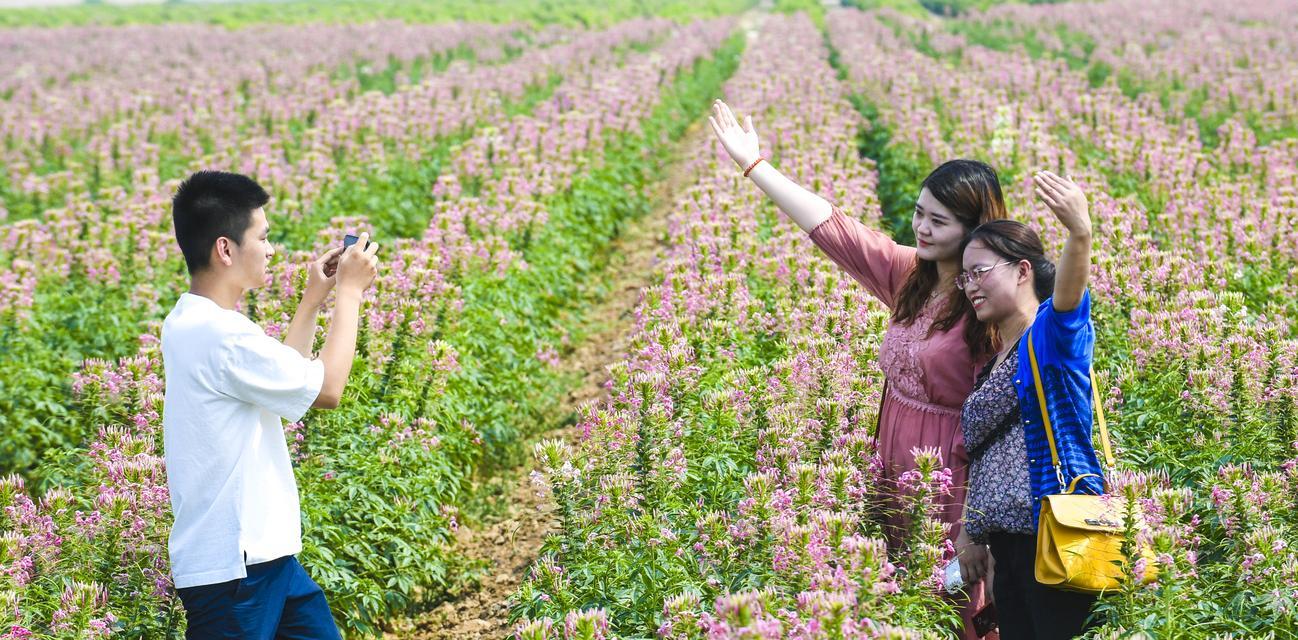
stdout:
<svg viewBox="0 0 1298 640">
<path fill-rule="evenodd" d="M 713 114 L 707 122 L 740 170 L 748 169 L 753 162 L 757 162 L 757 158 L 762 157 L 752 116 L 745 117 L 744 125 L 740 126 L 729 106 L 716 100 L 713 103 Z M 828 200 L 785 178 L 770 162 L 759 162 L 748 177 L 775 201 L 775 205 L 789 219 L 806 232 L 811 232 L 813 228 L 829 219 L 829 214 L 833 212 Z"/>
</svg>

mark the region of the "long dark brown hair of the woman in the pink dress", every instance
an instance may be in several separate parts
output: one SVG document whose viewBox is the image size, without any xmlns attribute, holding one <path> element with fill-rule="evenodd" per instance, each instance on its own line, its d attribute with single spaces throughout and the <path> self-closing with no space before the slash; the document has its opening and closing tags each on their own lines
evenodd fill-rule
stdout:
<svg viewBox="0 0 1298 640">
<path fill-rule="evenodd" d="M 970 232 L 980 225 L 1001 221 L 1007 217 L 1005 197 L 1001 195 L 1001 180 L 996 170 L 985 162 L 976 160 L 950 160 L 933 169 L 933 173 L 924 178 L 920 191 L 928 190 L 942 206 L 949 209 L 955 219 Z M 968 238 L 966 236 L 966 243 Z M 963 253 L 963 244 L 961 245 Z M 897 304 L 893 308 L 893 322 L 909 326 L 919 318 L 928 304 L 928 297 L 937 286 L 937 262 L 916 258 L 915 269 L 911 270 L 906 282 L 902 283 L 897 293 Z M 990 353 L 992 340 L 986 325 L 979 322 L 974 314 L 974 305 L 961 291 L 951 291 L 946 299 L 946 310 L 942 313 L 929 334 L 935 331 L 949 331 L 961 321 L 964 323 L 964 344 L 975 357 Z"/>
</svg>

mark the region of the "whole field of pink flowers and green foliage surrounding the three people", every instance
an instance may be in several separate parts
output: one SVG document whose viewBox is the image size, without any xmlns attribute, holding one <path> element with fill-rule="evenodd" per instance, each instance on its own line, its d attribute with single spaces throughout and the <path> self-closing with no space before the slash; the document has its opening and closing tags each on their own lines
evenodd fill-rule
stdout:
<svg viewBox="0 0 1298 640">
<path fill-rule="evenodd" d="M 1154 552 L 1088 637 L 1298 637 L 1298 4 L 844 4 L 0 9 L 0 637 L 184 636 L 160 331 L 200 169 L 271 195 L 271 336 L 314 256 L 383 247 L 340 408 L 284 426 L 345 637 L 957 637 L 935 452 L 884 541 L 889 310 L 718 97 L 903 244 L 963 157 L 1058 254 L 1032 175 L 1068 171 Z"/>
</svg>

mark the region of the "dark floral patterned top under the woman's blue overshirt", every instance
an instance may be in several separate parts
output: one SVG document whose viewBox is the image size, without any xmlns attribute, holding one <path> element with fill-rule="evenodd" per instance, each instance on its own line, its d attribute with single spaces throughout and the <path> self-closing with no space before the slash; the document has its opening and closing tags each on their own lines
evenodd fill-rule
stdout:
<svg viewBox="0 0 1298 640">
<path fill-rule="evenodd" d="M 1028 450 L 1014 375 L 1019 349 L 993 367 L 988 363 L 964 401 L 961 430 L 970 452 L 970 489 L 964 527 L 970 540 L 986 544 L 988 534 L 1035 534 Z"/>
</svg>

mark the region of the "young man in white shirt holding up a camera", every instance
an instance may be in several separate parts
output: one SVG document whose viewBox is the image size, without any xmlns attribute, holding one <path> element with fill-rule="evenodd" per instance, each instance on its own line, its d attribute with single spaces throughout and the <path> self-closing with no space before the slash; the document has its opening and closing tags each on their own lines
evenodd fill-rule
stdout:
<svg viewBox="0 0 1298 640">
<path fill-rule="evenodd" d="M 171 204 L 190 271 L 162 325 L 162 409 L 175 523 L 169 553 L 190 639 L 337 639 L 324 593 L 295 554 L 301 514 L 282 419 L 334 409 L 352 370 L 361 299 L 378 273 L 367 235 L 310 264 L 279 341 L 236 310 L 275 249 L 253 179 L 199 171 Z M 336 288 L 319 357 L 317 314 Z"/>
</svg>

